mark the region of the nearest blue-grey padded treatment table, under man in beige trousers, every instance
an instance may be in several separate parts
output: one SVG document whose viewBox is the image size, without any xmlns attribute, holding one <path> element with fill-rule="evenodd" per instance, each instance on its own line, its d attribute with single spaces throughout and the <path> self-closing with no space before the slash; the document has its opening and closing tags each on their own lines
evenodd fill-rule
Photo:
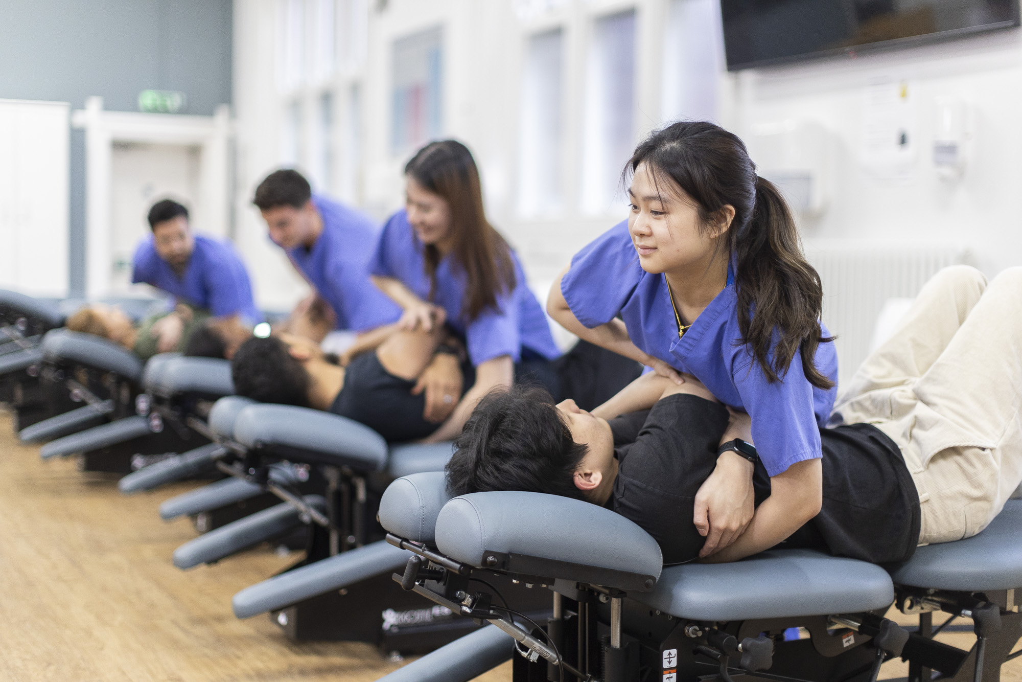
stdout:
<svg viewBox="0 0 1022 682">
<path fill-rule="evenodd" d="M 661 567 L 656 542 L 607 509 L 523 492 L 449 500 L 444 484 L 443 473 L 413 474 L 384 493 L 387 541 L 413 553 L 393 580 L 493 625 L 390 682 L 467 681 L 511 656 L 515 682 L 866 682 L 896 656 L 909 661 L 910 680 L 990 682 L 1022 634 L 1022 502 L 1009 502 L 978 536 L 921 547 L 889 572 L 795 549 Z M 481 582 L 496 577 L 548 594 L 549 619 L 507 610 Z M 883 618 L 892 603 L 921 616 L 920 632 Z M 929 638 L 937 610 L 973 619 L 971 650 Z M 789 628 L 801 638 L 786 640 Z"/>
</svg>

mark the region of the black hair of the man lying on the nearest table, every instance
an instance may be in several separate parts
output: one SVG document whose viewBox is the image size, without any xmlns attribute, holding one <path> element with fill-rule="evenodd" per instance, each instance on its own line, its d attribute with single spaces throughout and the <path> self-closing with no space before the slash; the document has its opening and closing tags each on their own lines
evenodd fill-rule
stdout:
<svg viewBox="0 0 1022 682">
<path fill-rule="evenodd" d="M 465 422 L 448 461 L 452 496 L 495 490 L 549 493 L 585 500 L 574 472 L 587 447 L 544 389 L 516 384 L 486 395 Z"/>
</svg>

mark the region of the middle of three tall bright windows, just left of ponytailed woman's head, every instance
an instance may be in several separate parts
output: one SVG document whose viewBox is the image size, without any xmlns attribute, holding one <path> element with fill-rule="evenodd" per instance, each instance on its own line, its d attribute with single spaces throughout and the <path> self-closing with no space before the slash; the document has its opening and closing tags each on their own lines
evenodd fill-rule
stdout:
<svg viewBox="0 0 1022 682">
<path fill-rule="evenodd" d="M 583 131 L 582 210 L 610 209 L 635 143 L 635 10 L 604 16 L 593 27 Z"/>
</svg>

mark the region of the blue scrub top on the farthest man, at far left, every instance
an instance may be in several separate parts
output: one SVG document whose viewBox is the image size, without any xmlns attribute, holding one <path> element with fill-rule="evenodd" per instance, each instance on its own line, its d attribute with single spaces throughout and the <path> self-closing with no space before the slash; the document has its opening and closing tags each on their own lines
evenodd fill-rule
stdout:
<svg viewBox="0 0 1022 682">
<path fill-rule="evenodd" d="M 244 263 L 229 243 L 212 237 L 195 235 L 195 248 L 179 277 L 159 258 L 150 234 L 135 249 L 131 280 L 162 289 L 182 303 L 204 308 L 214 317 L 237 314 L 249 324 L 263 320 L 263 313 L 252 301 Z"/>
</svg>

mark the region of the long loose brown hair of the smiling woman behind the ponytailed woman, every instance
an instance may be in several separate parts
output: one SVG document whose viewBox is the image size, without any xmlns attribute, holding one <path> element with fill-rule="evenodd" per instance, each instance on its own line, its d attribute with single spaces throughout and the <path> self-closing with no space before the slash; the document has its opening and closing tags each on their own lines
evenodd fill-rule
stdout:
<svg viewBox="0 0 1022 682">
<path fill-rule="evenodd" d="M 408 162 L 405 175 L 443 197 L 451 209 L 454 262 L 466 278 L 462 314 L 471 321 L 486 308 L 497 308 L 497 297 L 514 290 L 514 262 L 511 247 L 486 220 L 472 152 L 455 140 L 430 142 Z M 440 262 L 436 246 L 426 244 L 425 262 L 432 301 Z"/>
</svg>

